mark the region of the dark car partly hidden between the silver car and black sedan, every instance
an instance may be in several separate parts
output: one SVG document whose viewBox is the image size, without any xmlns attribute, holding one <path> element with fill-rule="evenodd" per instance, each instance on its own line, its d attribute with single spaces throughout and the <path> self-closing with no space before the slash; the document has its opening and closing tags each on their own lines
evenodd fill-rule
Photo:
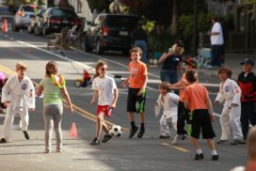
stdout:
<svg viewBox="0 0 256 171">
<path fill-rule="evenodd" d="M 42 14 L 46 11 L 45 8 L 40 8 L 35 17 L 30 18 L 30 23 L 27 26 L 28 33 L 34 32 L 36 35 L 40 35 L 42 30 L 43 17 Z"/>
</svg>

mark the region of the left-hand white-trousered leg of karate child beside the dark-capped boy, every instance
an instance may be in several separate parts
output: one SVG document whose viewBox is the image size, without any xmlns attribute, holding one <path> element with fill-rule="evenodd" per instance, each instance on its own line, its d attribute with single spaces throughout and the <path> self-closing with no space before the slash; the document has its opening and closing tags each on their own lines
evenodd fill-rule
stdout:
<svg viewBox="0 0 256 171">
<path fill-rule="evenodd" d="M 221 142 L 221 140 L 227 141 L 229 138 L 231 138 L 229 112 L 229 109 L 227 107 L 224 107 L 219 118 L 221 126 L 221 137 L 219 143 Z"/>
</svg>

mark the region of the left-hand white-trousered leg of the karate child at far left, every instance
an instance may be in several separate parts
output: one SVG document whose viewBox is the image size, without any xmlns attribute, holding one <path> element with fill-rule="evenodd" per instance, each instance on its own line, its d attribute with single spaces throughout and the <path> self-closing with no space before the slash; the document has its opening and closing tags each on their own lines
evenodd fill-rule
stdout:
<svg viewBox="0 0 256 171">
<path fill-rule="evenodd" d="M 15 115 L 15 111 L 12 109 L 11 105 L 8 105 L 7 115 L 5 117 L 3 135 L 2 135 L 2 138 L 5 138 L 6 140 L 8 140 L 10 136 L 14 115 Z"/>
</svg>

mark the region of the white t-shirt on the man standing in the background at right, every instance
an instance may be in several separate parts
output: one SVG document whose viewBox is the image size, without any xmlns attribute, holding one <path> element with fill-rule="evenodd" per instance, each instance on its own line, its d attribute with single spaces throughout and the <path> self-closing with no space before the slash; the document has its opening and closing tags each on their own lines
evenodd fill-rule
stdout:
<svg viewBox="0 0 256 171">
<path fill-rule="evenodd" d="M 213 28 L 212 28 L 212 33 L 218 33 L 217 35 L 211 35 L 211 44 L 212 45 L 223 45 L 224 44 L 224 39 L 223 39 L 223 32 L 222 32 L 222 27 L 220 23 L 215 23 Z"/>
</svg>

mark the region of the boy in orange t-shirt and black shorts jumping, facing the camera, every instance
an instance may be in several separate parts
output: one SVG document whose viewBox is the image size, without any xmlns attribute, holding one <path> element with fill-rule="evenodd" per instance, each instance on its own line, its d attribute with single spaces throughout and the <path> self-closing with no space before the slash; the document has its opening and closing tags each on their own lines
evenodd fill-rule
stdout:
<svg viewBox="0 0 256 171">
<path fill-rule="evenodd" d="M 140 131 L 138 138 L 142 138 L 144 128 L 144 107 L 146 102 L 146 85 L 148 82 L 148 71 L 146 65 L 140 61 L 142 51 L 136 47 L 130 50 L 132 61 L 129 63 L 130 77 L 127 78 L 122 85 L 125 86 L 129 82 L 127 112 L 129 121 L 131 122 L 131 130 L 129 138 L 132 138 L 138 128 L 136 127 L 134 113 L 139 113 Z"/>
</svg>

